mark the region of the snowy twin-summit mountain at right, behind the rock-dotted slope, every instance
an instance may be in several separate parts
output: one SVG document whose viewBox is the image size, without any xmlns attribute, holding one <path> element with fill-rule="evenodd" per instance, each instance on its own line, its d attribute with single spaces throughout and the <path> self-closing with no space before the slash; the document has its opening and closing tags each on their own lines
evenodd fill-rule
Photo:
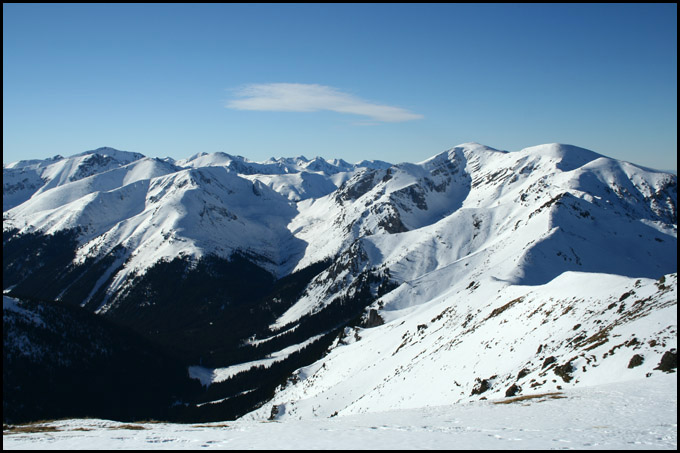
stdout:
<svg viewBox="0 0 680 453">
<path fill-rule="evenodd" d="M 417 165 L 356 173 L 337 192 L 298 204 L 290 229 L 308 244 L 298 267 L 358 239 L 364 267 L 387 268 L 398 282 L 444 268 L 439 278 L 451 281 L 486 275 L 519 284 L 568 270 L 675 271 L 676 177 L 598 156 L 558 145 L 506 153 L 466 144 Z M 274 327 L 337 297 L 322 280 Z"/>
</svg>

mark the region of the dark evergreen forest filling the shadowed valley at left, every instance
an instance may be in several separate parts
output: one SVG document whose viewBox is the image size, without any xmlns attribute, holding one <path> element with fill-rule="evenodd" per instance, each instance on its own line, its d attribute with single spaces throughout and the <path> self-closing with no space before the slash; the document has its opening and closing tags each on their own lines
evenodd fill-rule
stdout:
<svg viewBox="0 0 680 453">
<path fill-rule="evenodd" d="M 268 326 L 334 260 L 277 280 L 245 255 L 178 257 L 156 263 L 122 291 L 107 296 L 106 287 L 127 251 L 118 247 L 74 265 L 79 234 L 3 233 L 3 289 L 28 301 L 27 307 L 63 332 L 59 337 L 30 323 L 7 325 L 5 319 L 5 343 L 7 335 L 25 334 L 38 347 L 58 347 L 66 357 L 35 360 L 3 349 L 5 421 L 237 418 L 265 404 L 296 369 L 323 357 L 345 327 L 361 323 L 377 295 L 393 288 L 389 273 L 365 270 L 352 283 L 352 297 L 340 297 L 304 316 L 295 329 L 251 345 L 248 338 L 272 336 Z M 88 295 L 89 302 L 83 304 Z M 110 308 L 93 314 L 103 302 Z M 317 341 L 281 362 L 251 368 L 209 387 L 188 376 L 191 365 L 225 367 L 258 360 L 317 335 Z"/>
</svg>

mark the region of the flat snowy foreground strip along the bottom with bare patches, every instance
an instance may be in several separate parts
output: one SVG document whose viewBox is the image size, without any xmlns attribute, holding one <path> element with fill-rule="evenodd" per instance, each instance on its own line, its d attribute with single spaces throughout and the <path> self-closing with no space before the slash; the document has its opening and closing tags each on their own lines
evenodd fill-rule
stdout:
<svg viewBox="0 0 680 453">
<path fill-rule="evenodd" d="M 535 398 L 285 422 L 62 420 L 3 429 L 3 449 L 668 449 L 677 375 Z M 501 404 L 505 403 L 505 404 Z"/>
</svg>

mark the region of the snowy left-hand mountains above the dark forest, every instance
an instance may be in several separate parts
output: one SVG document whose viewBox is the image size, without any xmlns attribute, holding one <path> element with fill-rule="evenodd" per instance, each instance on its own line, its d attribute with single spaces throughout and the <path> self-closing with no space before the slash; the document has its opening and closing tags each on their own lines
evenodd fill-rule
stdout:
<svg viewBox="0 0 680 453">
<path fill-rule="evenodd" d="M 235 251 L 285 275 L 300 253 L 286 229 L 295 202 L 335 191 L 357 169 L 385 165 L 302 156 L 258 163 L 226 153 L 171 163 L 99 148 L 5 165 L 3 225 L 48 234 L 80 228 L 76 262 L 125 247 L 132 259 L 116 282 L 160 259 Z"/>
</svg>

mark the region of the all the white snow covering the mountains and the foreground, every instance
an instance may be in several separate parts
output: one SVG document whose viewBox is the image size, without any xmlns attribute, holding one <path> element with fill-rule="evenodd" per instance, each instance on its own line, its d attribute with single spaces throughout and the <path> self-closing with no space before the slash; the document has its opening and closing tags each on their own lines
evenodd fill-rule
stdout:
<svg viewBox="0 0 680 453">
<path fill-rule="evenodd" d="M 357 272 L 387 269 L 399 286 L 370 306 L 383 325 L 347 328 L 243 420 L 62 421 L 5 448 L 676 448 L 676 375 L 656 370 L 677 349 L 675 176 L 557 144 L 468 143 L 392 167 L 97 153 L 4 166 L 3 229 L 82 227 L 77 263 L 124 246 L 109 291 L 161 258 L 246 250 L 283 276 L 336 257 L 337 275 L 249 340 L 263 344 L 350 295 Z M 629 368 L 633 354 L 644 363 Z M 480 379 L 491 388 L 473 397 Z M 564 398 L 493 404 L 513 383 Z"/>
</svg>

